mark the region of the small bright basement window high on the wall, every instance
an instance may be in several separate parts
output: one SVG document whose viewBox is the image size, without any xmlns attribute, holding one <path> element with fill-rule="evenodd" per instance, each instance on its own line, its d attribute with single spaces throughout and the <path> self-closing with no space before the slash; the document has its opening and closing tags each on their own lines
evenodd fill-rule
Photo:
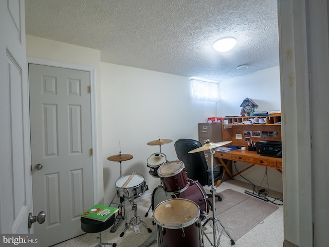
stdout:
<svg viewBox="0 0 329 247">
<path fill-rule="evenodd" d="M 192 100 L 213 102 L 218 102 L 220 100 L 218 82 L 191 78 L 190 89 Z"/>
</svg>

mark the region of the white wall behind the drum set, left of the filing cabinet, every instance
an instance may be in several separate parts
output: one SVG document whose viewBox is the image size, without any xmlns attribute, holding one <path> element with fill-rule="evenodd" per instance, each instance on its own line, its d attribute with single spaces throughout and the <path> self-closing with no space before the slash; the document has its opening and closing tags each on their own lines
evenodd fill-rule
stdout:
<svg viewBox="0 0 329 247">
<path fill-rule="evenodd" d="M 147 160 L 159 152 L 148 142 L 172 139 L 162 145 L 168 161 L 177 159 L 174 142 L 179 138 L 198 139 L 197 123 L 216 115 L 216 103 L 190 100 L 189 78 L 133 67 L 101 63 L 102 137 L 104 163 L 104 201 L 111 202 L 120 175 L 118 162 L 107 157 L 121 152 L 132 154 L 122 162 L 122 175 L 137 172 L 147 181 L 149 191 L 160 184 L 149 174 Z M 117 201 L 118 199 L 116 199 Z"/>
</svg>

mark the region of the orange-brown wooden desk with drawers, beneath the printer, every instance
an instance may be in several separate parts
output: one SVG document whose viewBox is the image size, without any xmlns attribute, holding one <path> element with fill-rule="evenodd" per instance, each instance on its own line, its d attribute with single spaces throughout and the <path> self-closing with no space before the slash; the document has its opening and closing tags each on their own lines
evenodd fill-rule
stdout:
<svg viewBox="0 0 329 247">
<path fill-rule="evenodd" d="M 232 150 L 229 152 L 215 152 L 213 155 L 215 158 L 218 159 L 218 161 L 223 165 L 224 167 L 224 174 L 227 172 L 229 177 L 234 180 L 234 177 L 236 175 L 239 175 L 240 173 L 248 170 L 249 168 L 253 167 L 254 165 L 259 166 L 266 166 L 277 169 L 282 174 L 282 158 L 275 158 L 275 157 L 269 157 L 269 156 L 263 156 L 258 154 L 255 151 L 248 151 L 248 150 Z M 245 163 L 250 163 L 251 165 L 247 168 L 243 169 L 240 172 L 237 172 L 235 174 L 231 174 L 231 172 L 228 169 L 228 165 L 232 161 L 241 161 Z M 223 174 L 223 176 L 224 176 Z M 220 181 L 218 181 L 220 182 Z M 216 184 L 216 186 L 219 186 L 220 183 Z"/>
</svg>

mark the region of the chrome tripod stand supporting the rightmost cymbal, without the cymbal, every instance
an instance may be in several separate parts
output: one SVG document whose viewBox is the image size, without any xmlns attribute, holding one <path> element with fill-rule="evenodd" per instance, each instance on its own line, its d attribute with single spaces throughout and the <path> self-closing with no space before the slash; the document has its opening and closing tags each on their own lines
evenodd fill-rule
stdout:
<svg viewBox="0 0 329 247">
<path fill-rule="evenodd" d="M 215 191 L 216 191 L 216 186 L 214 185 L 214 164 L 213 164 L 213 154 L 215 153 L 214 150 L 210 149 L 210 156 L 211 156 L 211 196 L 212 196 L 212 217 L 209 218 L 204 224 L 203 226 L 205 226 L 208 221 L 212 221 L 212 228 L 213 228 L 213 243 L 212 243 L 212 246 L 215 246 L 217 247 L 218 244 L 220 243 L 220 239 L 221 239 L 221 236 L 222 236 L 222 233 L 220 234 L 220 236 L 218 237 L 218 240 L 217 240 L 217 236 L 216 236 L 216 222 L 220 223 L 221 226 L 223 227 L 223 231 L 225 231 L 225 233 L 227 234 L 227 236 L 231 239 L 231 244 L 235 244 L 234 240 L 232 239 L 231 235 L 228 233 L 228 231 L 226 230 L 225 226 L 223 225 L 223 223 L 220 221 L 220 219 L 218 219 L 216 216 L 215 216 L 215 210 L 216 210 L 216 207 L 215 207 Z M 208 238 L 208 237 L 207 237 Z M 209 240 L 209 239 L 208 239 Z"/>
</svg>

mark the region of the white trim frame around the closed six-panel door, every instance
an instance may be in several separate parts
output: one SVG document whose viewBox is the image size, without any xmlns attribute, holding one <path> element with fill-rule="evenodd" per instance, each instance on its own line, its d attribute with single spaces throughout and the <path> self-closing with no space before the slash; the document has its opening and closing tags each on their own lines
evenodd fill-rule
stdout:
<svg viewBox="0 0 329 247">
<path fill-rule="evenodd" d="M 53 61 L 53 60 L 46 60 L 46 59 L 39 59 L 39 58 L 31 58 L 27 57 L 27 73 L 28 73 L 28 65 L 30 63 L 38 64 L 38 65 L 45 65 L 45 66 L 52 66 L 52 67 L 60 67 L 60 68 L 67 68 L 67 69 L 77 69 L 83 70 L 90 73 L 90 109 L 91 109 L 91 120 L 92 120 L 92 148 L 93 148 L 93 186 L 94 186 L 94 203 L 99 202 L 98 198 L 98 148 L 97 148 L 97 108 L 96 108 L 96 84 L 95 84 L 95 68 L 91 66 L 81 65 L 81 64 L 71 64 L 65 63 L 60 61 Z M 29 79 L 29 78 L 28 78 Z M 29 85 L 29 81 L 28 81 Z M 28 95 L 30 93 L 28 92 Z M 32 181 L 31 181 L 32 183 Z M 33 191 L 32 191 L 33 192 Z M 33 203 L 33 202 L 32 202 Z"/>
</svg>

